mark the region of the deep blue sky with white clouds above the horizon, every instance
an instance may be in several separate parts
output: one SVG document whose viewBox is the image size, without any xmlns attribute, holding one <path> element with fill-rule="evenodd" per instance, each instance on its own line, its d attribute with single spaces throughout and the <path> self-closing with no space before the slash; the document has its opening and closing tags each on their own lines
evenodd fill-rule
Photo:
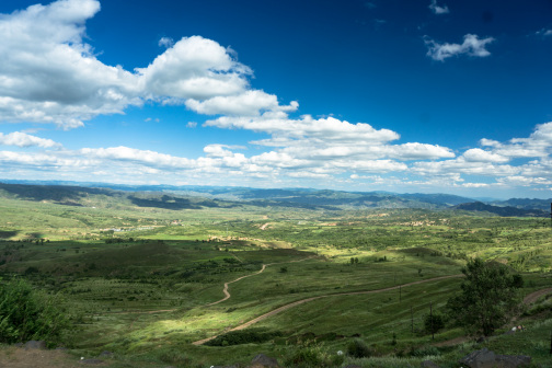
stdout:
<svg viewBox="0 0 552 368">
<path fill-rule="evenodd" d="M 551 0 L 2 0 L 0 181 L 552 197 Z"/>
</svg>

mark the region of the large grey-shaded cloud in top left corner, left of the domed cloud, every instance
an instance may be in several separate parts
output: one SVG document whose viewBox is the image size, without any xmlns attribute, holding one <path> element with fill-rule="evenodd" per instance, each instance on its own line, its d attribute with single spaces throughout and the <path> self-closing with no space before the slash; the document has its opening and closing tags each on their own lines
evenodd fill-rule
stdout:
<svg viewBox="0 0 552 368">
<path fill-rule="evenodd" d="M 95 0 L 59 0 L 0 18 L 0 122 L 82 126 L 136 100 L 136 76 L 100 62 L 82 42 Z"/>
</svg>

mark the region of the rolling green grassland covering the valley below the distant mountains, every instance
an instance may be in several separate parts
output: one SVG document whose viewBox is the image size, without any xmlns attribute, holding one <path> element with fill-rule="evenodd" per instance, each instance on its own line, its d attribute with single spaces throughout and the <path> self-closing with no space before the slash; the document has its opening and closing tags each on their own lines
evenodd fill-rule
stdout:
<svg viewBox="0 0 552 368">
<path fill-rule="evenodd" d="M 464 335 L 460 329 L 447 326 L 432 340 L 423 327 L 429 306 L 442 312 L 460 284 L 432 279 L 460 274 L 473 256 L 522 273 L 525 295 L 551 287 L 552 230 L 542 218 L 249 205 L 175 210 L 125 200 L 67 206 L 0 198 L 0 274 L 64 295 L 76 315 L 68 341 L 76 355 L 111 350 L 112 367 L 244 364 L 258 353 L 284 364 L 300 349 L 335 355 L 361 338 L 372 357 L 345 356 L 343 364 L 416 366 L 432 356 L 455 367 L 469 349 L 488 346 L 550 366 L 545 296 L 522 317 L 529 327 L 522 337 L 448 346 Z M 225 283 L 243 276 L 229 286 L 230 298 L 212 304 Z M 427 281 L 346 295 L 419 280 Z M 318 299 L 244 330 L 254 342 L 193 344 L 308 298 Z"/>
</svg>

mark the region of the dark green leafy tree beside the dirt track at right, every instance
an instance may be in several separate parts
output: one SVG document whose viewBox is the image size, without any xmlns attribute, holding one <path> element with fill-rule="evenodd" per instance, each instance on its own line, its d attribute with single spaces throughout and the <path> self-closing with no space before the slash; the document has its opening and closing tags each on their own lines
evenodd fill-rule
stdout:
<svg viewBox="0 0 552 368">
<path fill-rule="evenodd" d="M 518 311 L 524 280 L 507 266 L 481 258 L 468 261 L 462 274 L 461 294 L 447 302 L 450 318 L 472 334 L 488 336 Z"/>
</svg>

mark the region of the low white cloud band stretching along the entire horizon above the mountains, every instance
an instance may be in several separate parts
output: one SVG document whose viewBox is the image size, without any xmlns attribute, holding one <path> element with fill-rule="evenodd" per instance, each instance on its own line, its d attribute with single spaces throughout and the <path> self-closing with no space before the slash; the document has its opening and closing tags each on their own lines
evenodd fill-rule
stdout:
<svg viewBox="0 0 552 368">
<path fill-rule="evenodd" d="M 481 142 L 487 145 L 484 149 L 468 149 L 459 157 L 439 146 L 392 145 L 386 140 L 389 137 L 380 141 L 371 139 L 361 146 L 349 145 L 353 140 L 343 137 L 333 141 L 331 138 L 324 140 L 303 135 L 300 138 L 288 137 L 287 145 L 277 146 L 274 150 L 250 156 L 235 152 L 245 149 L 242 146 L 208 145 L 204 148 L 204 156 L 195 159 L 129 147 L 59 149 L 22 154 L 2 151 L 0 172 L 31 168 L 55 171 L 61 177 L 69 173 L 88 175 L 105 172 L 105 168 L 111 168 L 104 176 L 128 179 L 139 174 L 157 180 L 162 174 L 180 181 L 185 177 L 217 184 L 234 180 L 243 185 L 244 181 L 258 180 L 266 181 L 268 186 L 276 183 L 290 185 L 299 179 L 315 182 L 317 179 L 332 177 L 337 181 L 341 175 L 348 175 L 352 180 L 369 181 L 382 188 L 545 188 L 552 185 L 552 159 L 545 154 L 550 153 L 547 147 L 551 147 L 551 127 L 552 123 L 538 125 L 529 137 L 513 138 L 506 142 L 482 139 Z M 534 160 L 518 165 L 508 163 L 516 158 L 526 159 L 531 149 L 537 154 Z M 505 152 L 518 156 L 506 156 Z M 391 176 L 393 173 L 401 173 L 401 176 Z"/>
</svg>

